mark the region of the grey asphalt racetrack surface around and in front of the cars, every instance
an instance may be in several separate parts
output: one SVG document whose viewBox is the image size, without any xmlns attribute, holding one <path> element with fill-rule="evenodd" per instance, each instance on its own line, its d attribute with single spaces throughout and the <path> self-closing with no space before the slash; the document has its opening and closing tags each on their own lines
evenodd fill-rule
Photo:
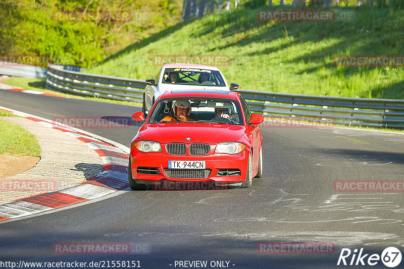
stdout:
<svg viewBox="0 0 404 269">
<path fill-rule="evenodd" d="M 12 91 L 0 91 L 0 106 L 47 119 L 131 116 L 140 110 Z M 129 146 L 138 126 L 83 129 Z M 380 255 L 394 246 L 404 254 L 404 192 L 336 192 L 333 186 L 337 180 L 403 180 L 403 134 L 268 125 L 261 131 L 264 176 L 250 189 L 124 190 L 2 222 L 0 261 L 133 260 L 141 268 L 180 268 L 176 261 L 206 260 L 207 268 L 211 261 L 229 261 L 230 268 L 336 268 L 341 248 Z M 67 242 L 138 243 L 150 252 L 53 252 L 54 244 Z M 336 249 L 333 254 L 258 253 L 260 242 L 332 242 Z M 387 268 L 380 260 L 375 266 L 355 262 L 343 267 Z"/>
</svg>

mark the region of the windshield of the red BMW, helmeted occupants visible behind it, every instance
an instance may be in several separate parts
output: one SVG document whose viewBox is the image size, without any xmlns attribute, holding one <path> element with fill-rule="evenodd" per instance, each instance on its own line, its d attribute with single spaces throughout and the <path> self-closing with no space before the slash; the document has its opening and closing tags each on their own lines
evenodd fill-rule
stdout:
<svg viewBox="0 0 404 269">
<path fill-rule="evenodd" d="M 184 111 L 184 114 L 181 114 L 181 111 Z M 170 121 L 244 124 L 242 112 L 236 100 L 210 97 L 164 98 L 159 100 L 151 111 L 147 123 Z"/>
</svg>

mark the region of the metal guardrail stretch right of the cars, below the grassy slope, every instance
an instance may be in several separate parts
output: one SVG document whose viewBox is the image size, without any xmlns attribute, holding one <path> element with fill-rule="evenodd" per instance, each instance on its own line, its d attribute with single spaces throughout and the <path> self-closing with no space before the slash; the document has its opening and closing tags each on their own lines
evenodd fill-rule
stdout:
<svg viewBox="0 0 404 269">
<path fill-rule="evenodd" d="M 333 119 L 335 123 L 404 128 L 404 100 L 296 95 L 238 90 L 252 111 Z"/>
</svg>

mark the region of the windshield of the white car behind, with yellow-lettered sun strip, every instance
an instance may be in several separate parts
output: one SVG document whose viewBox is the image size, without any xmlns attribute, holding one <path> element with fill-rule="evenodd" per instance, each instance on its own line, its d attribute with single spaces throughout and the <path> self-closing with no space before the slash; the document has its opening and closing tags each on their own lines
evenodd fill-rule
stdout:
<svg viewBox="0 0 404 269">
<path fill-rule="evenodd" d="M 225 87 L 219 71 L 198 68 L 166 68 L 163 83 Z"/>
</svg>

